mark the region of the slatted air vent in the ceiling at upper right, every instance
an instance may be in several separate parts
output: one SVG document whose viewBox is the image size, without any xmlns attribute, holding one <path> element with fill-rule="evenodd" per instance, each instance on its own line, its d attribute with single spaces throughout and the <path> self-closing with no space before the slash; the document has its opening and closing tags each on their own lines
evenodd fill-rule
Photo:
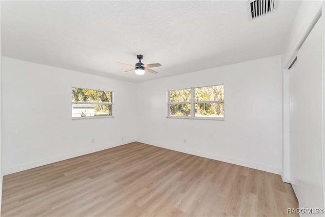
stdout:
<svg viewBox="0 0 325 217">
<path fill-rule="evenodd" d="M 255 19 L 272 12 L 275 9 L 274 0 L 254 0 L 248 1 L 249 18 Z"/>
</svg>

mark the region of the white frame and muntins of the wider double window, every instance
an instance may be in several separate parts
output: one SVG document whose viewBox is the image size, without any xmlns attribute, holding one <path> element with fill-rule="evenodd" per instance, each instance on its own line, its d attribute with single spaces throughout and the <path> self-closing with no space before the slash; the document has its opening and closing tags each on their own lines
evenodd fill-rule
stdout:
<svg viewBox="0 0 325 217">
<path fill-rule="evenodd" d="M 224 108 L 224 99 L 223 100 L 213 100 L 213 101 L 194 101 L 194 89 L 195 88 L 202 88 L 202 87 L 209 87 L 209 86 L 223 86 L 223 95 L 225 95 L 224 91 L 224 84 L 214 84 L 214 85 L 205 85 L 205 86 L 197 86 L 197 87 L 185 87 L 185 88 L 180 88 L 180 89 L 169 89 L 166 92 L 166 97 L 167 97 L 167 118 L 178 118 L 178 119 L 197 119 L 197 120 L 224 120 L 225 117 L 225 112 L 223 111 L 223 117 L 196 117 L 195 116 L 195 104 L 198 103 L 223 103 L 223 108 Z M 173 90 L 181 90 L 181 89 L 190 89 L 191 93 L 191 101 L 190 102 L 170 102 L 169 100 L 169 91 Z M 178 104 L 190 104 L 190 116 L 171 116 L 169 115 L 169 106 L 170 105 L 178 105 Z"/>
</svg>

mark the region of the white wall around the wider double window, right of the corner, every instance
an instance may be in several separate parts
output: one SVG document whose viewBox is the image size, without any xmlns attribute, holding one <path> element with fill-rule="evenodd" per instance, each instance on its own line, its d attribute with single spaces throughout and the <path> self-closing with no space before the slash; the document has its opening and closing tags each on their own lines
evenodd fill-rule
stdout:
<svg viewBox="0 0 325 217">
<path fill-rule="evenodd" d="M 140 83 L 138 141 L 280 174 L 281 76 L 272 56 Z M 224 121 L 166 118 L 168 89 L 222 83 Z"/>
</svg>

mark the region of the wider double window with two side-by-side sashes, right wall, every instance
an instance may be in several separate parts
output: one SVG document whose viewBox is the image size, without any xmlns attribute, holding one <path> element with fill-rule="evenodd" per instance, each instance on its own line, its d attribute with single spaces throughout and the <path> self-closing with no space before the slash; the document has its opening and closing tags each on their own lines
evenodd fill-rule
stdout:
<svg viewBox="0 0 325 217">
<path fill-rule="evenodd" d="M 168 91 L 168 116 L 224 118 L 224 86 L 204 86 Z"/>
</svg>

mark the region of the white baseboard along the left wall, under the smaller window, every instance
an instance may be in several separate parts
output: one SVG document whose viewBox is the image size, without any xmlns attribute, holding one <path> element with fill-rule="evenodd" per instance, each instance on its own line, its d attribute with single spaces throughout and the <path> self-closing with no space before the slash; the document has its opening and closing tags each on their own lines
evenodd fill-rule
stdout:
<svg viewBox="0 0 325 217">
<path fill-rule="evenodd" d="M 93 147 L 93 148 L 89 148 L 89 149 L 84 149 L 84 150 L 76 151 L 74 153 L 69 153 L 69 154 L 64 154 L 62 156 L 57 156 L 55 158 L 44 159 L 44 160 L 41 160 L 41 161 L 36 161 L 36 162 L 20 165 L 20 166 L 17 166 L 17 167 L 6 168 L 6 169 L 3 169 L 3 173 L 4 173 L 4 175 L 9 175 L 9 174 L 16 173 L 16 172 L 19 172 L 19 171 L 28 170 L 28 169 L 31 169 L 31 168 L 44 166 L 44 165 L 55 163 L 55 162 L 58 162 L 58 161 L 63 161 L 63 160 L 79 157 L 79 156 L 82 156 L 84 154 L 105 150 L 105 149 L 108 149 L 108 148 L 124 145 L 124 144 L 135 142 L 135 141 L 136 140 L 129 140 L 129 141 L 123 141 L 123 142 L 118 142 L 118 143 L 114 143 L 114 144 L 109 144 L 109 145 L 103 145 L 103 146 L 97 146 L 97 147 Z"/>
</svg>

